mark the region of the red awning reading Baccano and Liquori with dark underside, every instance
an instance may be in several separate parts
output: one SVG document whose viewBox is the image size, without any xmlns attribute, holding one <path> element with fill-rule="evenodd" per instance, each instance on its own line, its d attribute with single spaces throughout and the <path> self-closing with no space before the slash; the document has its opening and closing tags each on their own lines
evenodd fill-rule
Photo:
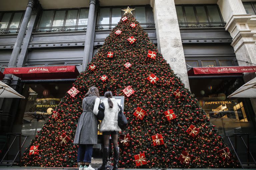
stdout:
<svg viewBox="0 0 256 170">
<path fill-rule="evenodd" d="M 79 75 L 75 65 L 10 67 L 4 74 L 13 74 L 22 80 L 70 79 Z"/>
</svg>

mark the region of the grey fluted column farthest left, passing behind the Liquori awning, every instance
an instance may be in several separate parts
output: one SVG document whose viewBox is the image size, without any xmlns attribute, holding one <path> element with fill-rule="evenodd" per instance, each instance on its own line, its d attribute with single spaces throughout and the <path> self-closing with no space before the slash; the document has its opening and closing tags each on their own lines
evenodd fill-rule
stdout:
<svg viewBox="0 0 256 170">
<path fill-rule="evenodd" d="M 35 0 L 28 0 L 27 9 L 25 11 L 23 20 L 21 22 L 20 30 L 19 30 L 17 40 L 16 40 L 15 45 L 14 45 L 13 50 L 12 50 L 12 54 L 11 54 L 11 58 L 10 58 L 8 67 L 15 66 L 15 64 L 17 62 L 17 58 L 18 58 L 18 55 L 19 55 L 19 52 L 20 52 L 21 44 L 22 44 L 26 29 L 27 29 L 27 26 L 28 26 L 28 21 L 30 19 L 30 16 L 31 16 L 34 5 L 35 5 Z M 12 81 L 11 77 L 12 77 L 11 74 L 6 74 L 4 79 L 3 79 L 3 82 L 9 85 Z"/>
</svg>

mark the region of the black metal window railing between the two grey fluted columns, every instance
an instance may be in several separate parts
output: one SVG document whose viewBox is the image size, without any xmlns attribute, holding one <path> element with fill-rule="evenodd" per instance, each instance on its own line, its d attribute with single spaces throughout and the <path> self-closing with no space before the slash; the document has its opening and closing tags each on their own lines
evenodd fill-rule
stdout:
<svg viewBox="0 0 256 170">
<path fill-rule="evenodd" d="M 71 32 L 71 31 L 86 31 L 87 25 L 79 26 L 60 26 L 60 27 L 35 27 L 34 33 L 41 32 Z"/>
</svg>

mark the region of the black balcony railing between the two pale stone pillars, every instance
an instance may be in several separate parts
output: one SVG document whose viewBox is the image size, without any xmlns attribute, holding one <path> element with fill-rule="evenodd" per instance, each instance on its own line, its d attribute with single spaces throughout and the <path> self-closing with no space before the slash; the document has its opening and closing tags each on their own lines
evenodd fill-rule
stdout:
<svg viewBox="0 0 256 170">
<path fill-rule="evenodd" d="M 208 23 L 179 23 L 180 28 L 219 28 L 225 27 L 226 22 L 208 22 Z"/>
</svg>

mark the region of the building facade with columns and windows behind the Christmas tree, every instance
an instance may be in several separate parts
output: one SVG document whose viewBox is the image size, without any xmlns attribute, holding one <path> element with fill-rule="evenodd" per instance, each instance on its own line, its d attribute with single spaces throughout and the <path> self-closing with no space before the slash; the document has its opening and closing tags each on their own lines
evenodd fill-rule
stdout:
<svg viewBox="0 0 256 170">
<path fill-rule="evenodd" d="M 195 94 L 219 132 L 224 137 L 250 133 L 251 144 L 256 143 L 256 100 L 227 98 L 253 79 L 255 72 L 188 72 L 192 67 L 256 64 L 256 1 L 0 0 L 0 4 L 1 72 L 6 67 L 64 65 L 76 65 L 79 72 L 84 71 L 124 14 L 121 9 L 135 8 L 133 15 L 151 42 Z M 65 75 L 28 80 L 6 74 L 2 78 L 26 97 L 0 99 L 3 139 L 8 132 L 22 132 L 32 139 L 75 81 Z M 100 146 L 95 146 L 97 149 Z M 255 153 L 255 147 L 251 149 Z"/>
</svg>

